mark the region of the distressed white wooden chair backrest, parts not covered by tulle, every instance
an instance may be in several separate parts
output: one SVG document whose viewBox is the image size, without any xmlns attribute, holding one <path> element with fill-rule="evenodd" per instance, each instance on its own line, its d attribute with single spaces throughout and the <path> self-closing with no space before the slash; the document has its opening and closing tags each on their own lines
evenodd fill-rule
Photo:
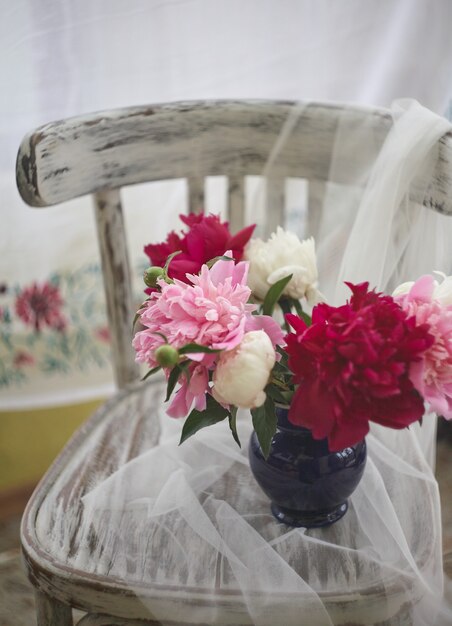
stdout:
<svg viewBox="0 0 452 626">
<path fill-rule="evenodd" d="M 309 211 L 315 214 L 327 181 L 363 168 L 360 153 L 349 154 L 337 179 L 330 171 L 336 128 L 353 132 L 370 125 L 382 144 L 392 124 L 386 109 L 272 101 L 208 101 L 160 104 L 74 117 L 28 134 L 17 158 L 23 200 L 48 206 L 94 194 L 98 237 L 112 330 L 113 362 L 119 387 L 137 378 L 131 348 L 133 299 L 119 189 L 126 185 L 184 178 L 189 209 L 204 204 L 207 176 L 228 179 L 232 231 L 244 223 L 244 178 L 270 169 L 266 232 L 282 222 L 287 178 L 309 181 Z M 282 133 L 284 142 L 279 142 Z M 428 194 L 429 208 L 452 214 L 452 137 L 441 139 Z"/>
</svg>

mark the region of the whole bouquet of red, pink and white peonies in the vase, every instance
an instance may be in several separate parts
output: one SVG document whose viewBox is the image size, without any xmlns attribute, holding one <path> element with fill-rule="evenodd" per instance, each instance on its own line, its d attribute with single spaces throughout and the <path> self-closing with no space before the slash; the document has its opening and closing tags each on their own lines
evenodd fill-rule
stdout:
<svg viewBox="0 0 452 626">
<path fill-rule="evenodd" d="M 149 297 L 133 340 L 146 377 L 163 369 L 168 415 L 187 417 L 181 443 L 227 419 L 240 445 L 245 408 L 267 456 L 275 404 L 331 451 L 363 439 L 370 421 L 421 420 L 425 403 L 452 419 L 452 277 L 422 276 L 392 296 L 346 283 L 350 299 L 332 307 L 312 238 L 278 228 L 264 242 L 254 226 L 232 236 L 215 215 L 181 220 L 186 232 L 145 248 Z"/>
</svg>

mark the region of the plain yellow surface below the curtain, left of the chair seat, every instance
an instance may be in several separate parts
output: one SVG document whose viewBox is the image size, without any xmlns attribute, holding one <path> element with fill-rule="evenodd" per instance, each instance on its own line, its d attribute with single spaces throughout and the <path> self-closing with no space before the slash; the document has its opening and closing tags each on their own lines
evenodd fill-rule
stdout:
<svg viewBox="0 0 452 626">
<path fill-rule="evenodd" d="M 100 403 L 0 413 L 0 491 L 37 482 Z"/>
</svg>

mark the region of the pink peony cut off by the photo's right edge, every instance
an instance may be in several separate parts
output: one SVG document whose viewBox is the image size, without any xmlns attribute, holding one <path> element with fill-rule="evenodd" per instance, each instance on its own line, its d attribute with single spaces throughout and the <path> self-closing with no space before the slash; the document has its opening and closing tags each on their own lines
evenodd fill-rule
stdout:
<svg viewBox="0 0 452 626">
<path fill-rule="evenodd" d="M 411 365 L 410 379 L 433 411 L 452 419 L 452 305 L 435 298 L 435 281 L 429 275 L 395 299 L 418 324 L 428 325 L 434 338 L 422 359 Z"/>
</svg>

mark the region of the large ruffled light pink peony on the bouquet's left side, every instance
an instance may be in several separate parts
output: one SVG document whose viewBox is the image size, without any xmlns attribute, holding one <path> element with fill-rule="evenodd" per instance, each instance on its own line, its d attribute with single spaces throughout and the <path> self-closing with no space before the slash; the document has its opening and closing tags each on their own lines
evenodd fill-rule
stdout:
<svg viewBox="0 0 452 626">
<path fill-rule="evenodd" d="M 197 343 L 213 350 L 233 350 L 252 330 L 265 331 L 273 346 L 282 343 L 283 333 L 271 317 L 252 315 L 256 305 L 248 304 L 247 274 L 246 262 L 217 261 L 211 269 L 203 265 L 198 276 L 188 275 L 189 283 L 160 280 L 161 291 L 152 293 L 140 312 L 145 329 L 133 340 L 136 360 L 155 367 L 155 350 L 166 342 L 176 349 Z M 193 402 L 198 409 L 205 407 L 208 372 L 214 369 L 218 354 L 188 356 L 199 366 L 190 366 L 190 381 L 185 376 L 179 380 L 181 388 L 169 411 L 177 417 L 186 415 Z"/>
</svg>

